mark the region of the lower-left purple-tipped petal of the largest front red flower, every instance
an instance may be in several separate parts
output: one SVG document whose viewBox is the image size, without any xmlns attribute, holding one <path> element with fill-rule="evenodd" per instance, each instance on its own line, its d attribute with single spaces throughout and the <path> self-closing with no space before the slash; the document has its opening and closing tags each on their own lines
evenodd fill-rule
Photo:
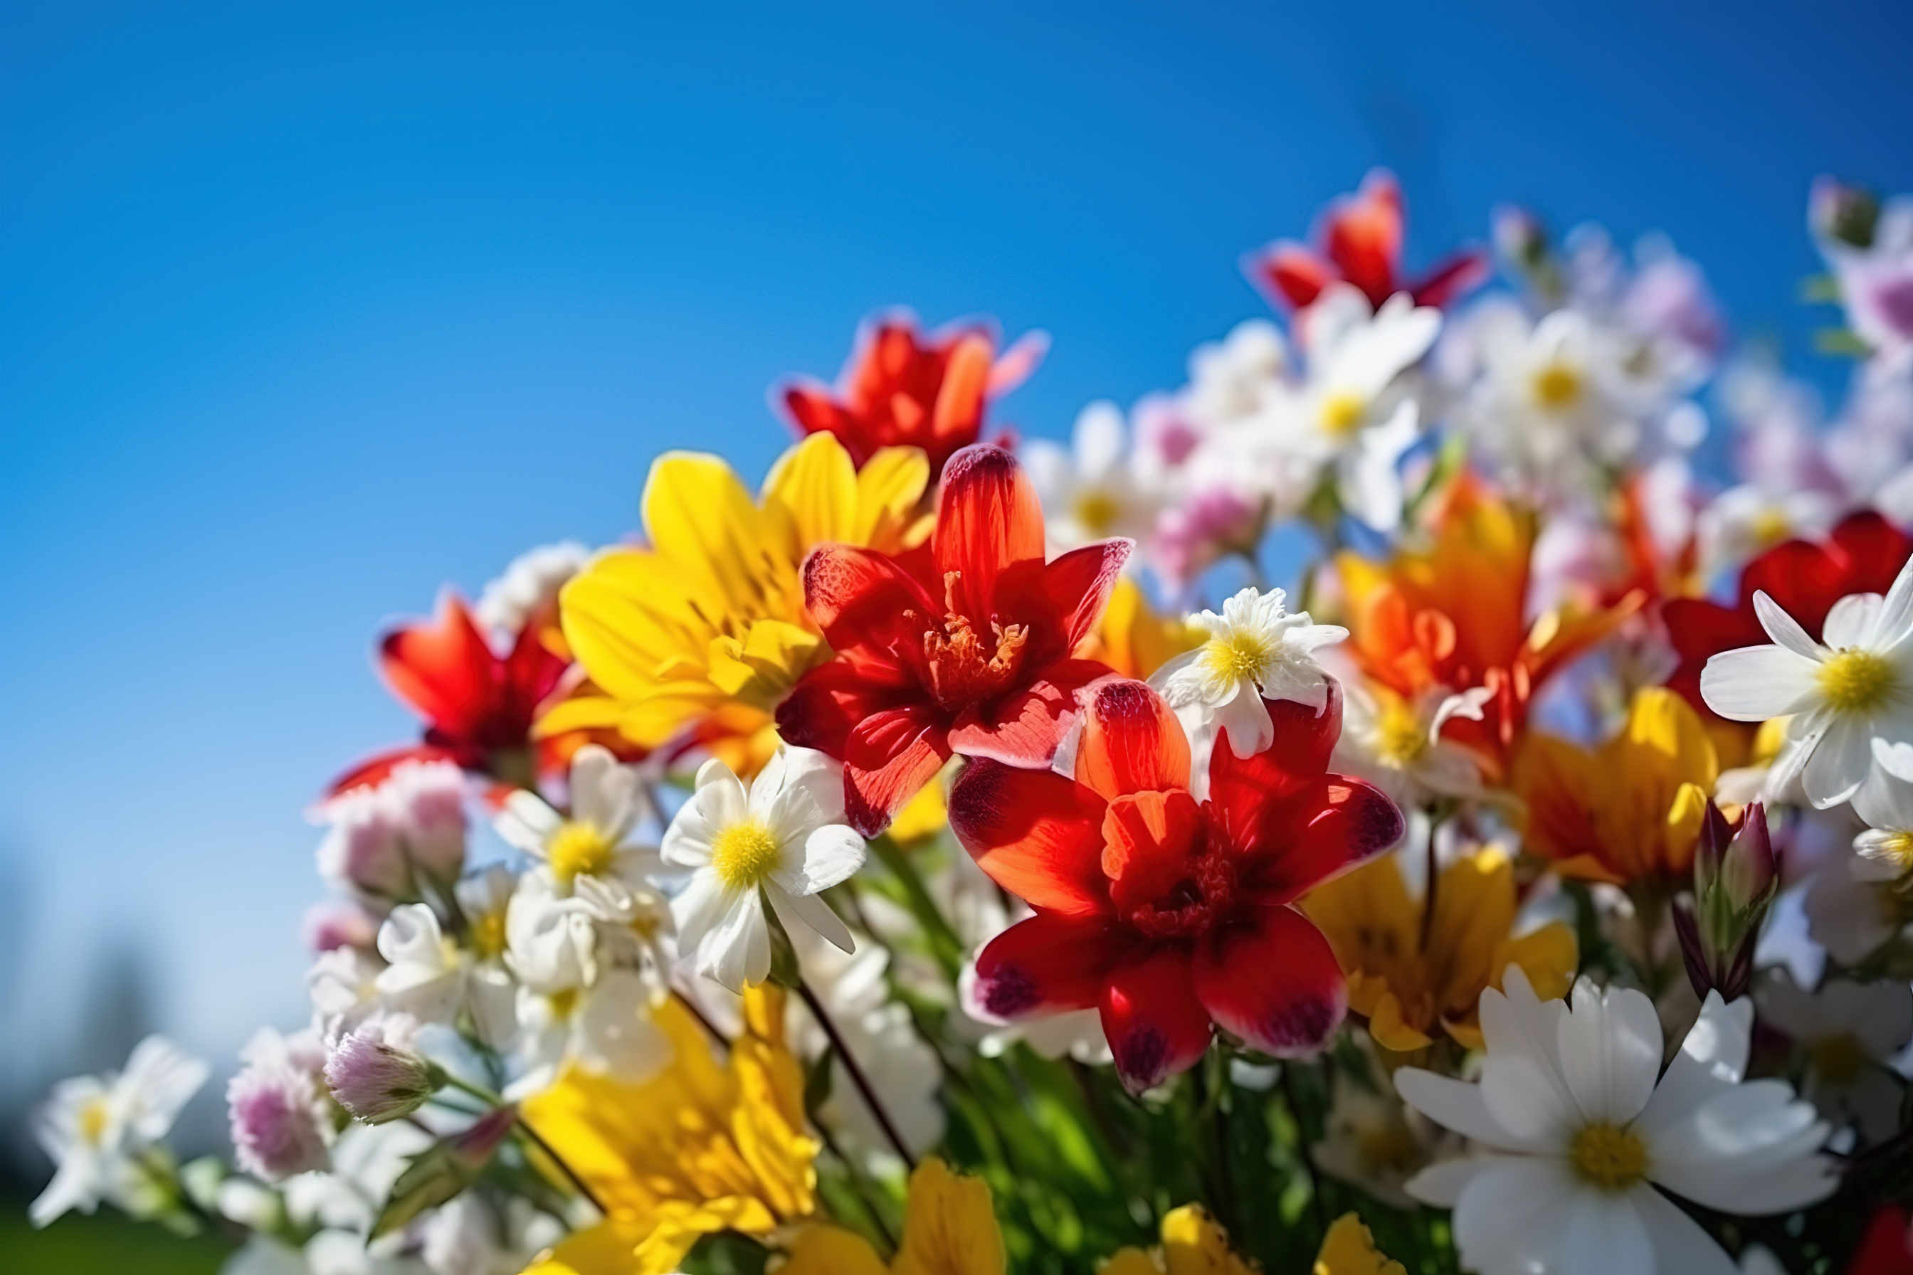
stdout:
<svg viewBox="0 0 1913 1275">
<path fill-rule="evenodd" d="M 1104 918 L 1027 918 L 978 952 L 972 1000 L 997 1019 L 1092 1009 L 1121 942 Z"/>
</svg>

